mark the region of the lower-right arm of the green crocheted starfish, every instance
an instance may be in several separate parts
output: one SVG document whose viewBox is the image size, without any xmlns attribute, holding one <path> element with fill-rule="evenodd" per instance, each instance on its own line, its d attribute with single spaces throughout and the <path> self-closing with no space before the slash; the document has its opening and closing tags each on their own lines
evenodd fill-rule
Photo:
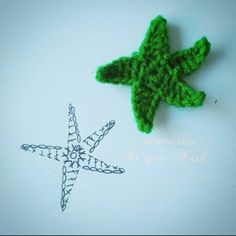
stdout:
<svg viewBox="0 0 236 236">
<path fill-rule="evenodd" d="M 195 91 L 185 82 L 176 82 L 175 86 L 169 91 L 168 95 L 162 94 L 162 100 L 176 107 L 197 107 L 204 102 L 206 95 L 202 91 Z"/>
</svg>

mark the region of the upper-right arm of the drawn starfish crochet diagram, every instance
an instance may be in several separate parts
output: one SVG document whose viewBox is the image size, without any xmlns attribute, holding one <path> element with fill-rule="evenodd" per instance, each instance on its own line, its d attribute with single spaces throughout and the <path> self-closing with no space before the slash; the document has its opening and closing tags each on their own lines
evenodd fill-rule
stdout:
<svg viewBox="0 0 236 236">
<path fill-rule="evenodd" d="M 105 135 L 107 135 L 109 131 L 114 127 L 115 123 L 116 122 L 114 120 L 107 122 L 104 126 L 101 127 L 101 129 L 93 132 L 83 140 L 87 147 L 87 153 L 94 152 L 94 150 L 99 146 L 100 142 L 103 140 Z"/>
</svg>

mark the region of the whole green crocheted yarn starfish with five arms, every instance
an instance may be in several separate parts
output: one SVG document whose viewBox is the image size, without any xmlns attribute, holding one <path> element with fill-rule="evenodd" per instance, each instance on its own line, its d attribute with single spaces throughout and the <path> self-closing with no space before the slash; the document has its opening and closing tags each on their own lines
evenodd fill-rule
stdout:
<svg viewBox="0 0 236 236">
<path fill-rule="evenodd" d="M 162 16 L 153 19 L 138 52 L 98 67 L 96 74 L 99 82 L 131 86 L 134 116 L 145 133 L 152 130 L 160 100 L 197 107 L 205 99 L 204 92 L 195 91 L 181 77 L 198 69 L 210 51 L 209 41 L 203 37 L 193 47 L 170 54 L 166 23 Z"/>
</svg>

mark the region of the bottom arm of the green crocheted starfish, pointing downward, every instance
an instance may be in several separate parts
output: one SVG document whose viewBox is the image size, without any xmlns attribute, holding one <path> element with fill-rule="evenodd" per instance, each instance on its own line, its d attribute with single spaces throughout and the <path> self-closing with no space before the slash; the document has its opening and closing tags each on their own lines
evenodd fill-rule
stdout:
<svg viewBox="0 0 236 236">
<path fill-rule="evenodd" d="M 137 81 L 132 86 L 132 107 L 138 129 L 150 133 L 159 102 L 159 94 Z"/>
</svg>

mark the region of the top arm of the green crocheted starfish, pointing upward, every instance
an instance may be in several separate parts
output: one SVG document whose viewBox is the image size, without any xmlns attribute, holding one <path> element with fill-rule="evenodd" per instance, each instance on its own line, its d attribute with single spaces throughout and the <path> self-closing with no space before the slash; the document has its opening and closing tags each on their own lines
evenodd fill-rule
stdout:
<svg viewBox="0 0 236 236">
<path fill-rule="evenodd" d="M 169 53 L 166 19 L 158 16 L 150 23 L 149 29 L 140 47 L 140 57 L 151 60 L 161 59 Z"/>
</svg>

